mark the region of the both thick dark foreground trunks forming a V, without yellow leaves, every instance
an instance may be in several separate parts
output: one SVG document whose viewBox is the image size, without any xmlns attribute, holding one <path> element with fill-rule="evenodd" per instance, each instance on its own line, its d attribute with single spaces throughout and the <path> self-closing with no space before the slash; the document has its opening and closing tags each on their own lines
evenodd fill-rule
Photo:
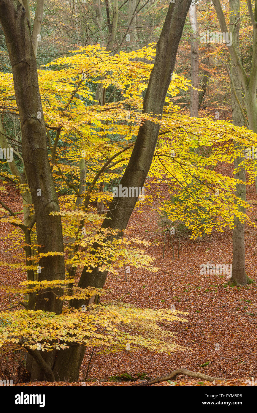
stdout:
<svg viewBox="0 0 257 413">
<path fill-rule="evenodd" d="M 165 96 L 170 84 L 170 74 L 174 69 L 177 47 L 190 3 L 191 0 L 180 0 L 175 4 L 170 4 L 168 8 L 163 30 L 156 45 L 156 60 L 144 97 L 143 113 L 153 113 L 158 118 L 163 113 Z M 45 121 L 38 87 L 35 54 L 26 21 L 26 9 L 18 0 L 1 0 L 0 12 L 0 21 L 13 68 L 14 90 L 21 120 L 24 166 L 35 208 L 38 243 L 41 245 L 39 252 L 46 254 L 46 256 L 42 255 L 40 259 L 42 273 L 39 275 L 39 281 L 64 280 L 63 237 L 61 219 L 58 215 L 59 203 L 47 156 Z M 139 127 L 137 140 L 120 182 L 121 185 L 125 187 L 142 187 L 144 185 L 144 180 L 151 166 L 159 129 L 160 125 L 148 120 Z M 125 199 L 125 202 L 124 198 L 115 199 L 102 228 L 124 230 L 136 201 L 136 196 Z M 53 214 L 53 212 L 57 212 L 57 214 Z M 52 254 L 50 254 L 51 252 Z M 94 284 L 103 286 L 105 279 L 106 272 L 100 273 L 95 268 L 92 273 L 83 270 L 79 287 L 87 287 L 88 282 L 92 286 Z M 53 311 L 58 315 L 62 306 L 54 294 L 60 296 L 61 290 L 61 287 L 52 291 L 49 289 L 46 291 L 45 297 L 38 296 L 35 309 Z M 78 305 L 80 304 L 81 300 L 78 300 Z M 52 351 L 47 356 L 41 357 L 39 361 L 38 352 L 33 350 L 34 363 L 33 366 L 30 366 L 31 377 L 33 379 L 40 378 L 47 372 L 47 377 L 59 377 L 60 380 L 68 377 L 71 381 L 76 380 L 84 353 L 85 347 L 83 344 L 79 344 L 66 350 L 58 350 L 57 354 Z"/>
</svg>

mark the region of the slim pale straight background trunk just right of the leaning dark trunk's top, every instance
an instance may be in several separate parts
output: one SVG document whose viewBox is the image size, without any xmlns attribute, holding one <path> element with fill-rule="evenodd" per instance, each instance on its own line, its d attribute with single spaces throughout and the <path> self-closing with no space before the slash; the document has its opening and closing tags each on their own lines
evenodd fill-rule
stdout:
<svg viewBox="0 0 257 413">
<path fill-rule="evenodd" d="M 197 27 L 197 14 L 196 14 L 196 4 L 192 3 L 189 7 L 189 21 L 191 24 L 191 85 L 194 88 L 199 89 L 199 46 L 198 46 L 198 27 Z M 198 90 L 191 88 L 190 91 L 190 116 L 198 118 Z"/>
</svg>

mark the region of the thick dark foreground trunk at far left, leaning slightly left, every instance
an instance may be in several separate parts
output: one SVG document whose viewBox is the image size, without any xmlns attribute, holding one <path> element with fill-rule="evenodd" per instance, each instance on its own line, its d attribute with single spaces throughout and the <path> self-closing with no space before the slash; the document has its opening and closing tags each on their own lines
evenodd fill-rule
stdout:
<svg viewBox="0 0 257 413">
<path fill-rule="evenodd" d="M 47 155 L 45 121 L 38 87 L 38 72 L 25 8 L 18 0 L 0 0 L 0 22 L 13 69 L 19 109 L 24 168 L 35 207 L 39 252 L 63 252 L 61 218 Z M 41 195 L 40 195 L 41 194 Z M 40 280 L 64 279 L 64 256 L 40 260 Z M 48 298 L 48 301 L 44 298 Z M 38 297 L 36 308 L 60 313 L 61 302 L 49 292 Z"/>
</svg>

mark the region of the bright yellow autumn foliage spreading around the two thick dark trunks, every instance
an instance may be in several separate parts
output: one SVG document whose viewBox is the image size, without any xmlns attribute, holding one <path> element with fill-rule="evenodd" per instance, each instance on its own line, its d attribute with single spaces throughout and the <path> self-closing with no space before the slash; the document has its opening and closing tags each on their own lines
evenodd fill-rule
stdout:
<svg viewBox="0 0 257 413">
<path fill-rule="evenodd" d="M 131 148 L 134 146 L 134 135 L 137 133 L 138 124 L 142 123 L 141 110 L 139 110 L 142 103 L 141 89 L 145 88 L 153 66 L 141 62 L 137 57 L 148 57 L 145 60 L 149 62 L 149 57 L 154 58 L 154 52 L 155 49 L 150 46 L 137 52 L 126 54 L 120 52 L 118 55 L 112 56 L 111 52 L 103 50 L 99 46 L 82 47 L 69 57 L 51 62 L 49 64 L 51 69 L 46 70 L 47 68 L 45 68 L 43 70 L 41 68 L 38 71 L 39 88 L 47 125 L 48 147 L 50 148 L 48 152 L 54 184 L 58 188 L 61 205 L 61 211 L 51 213 L 51 215 L 62 217 L 64 235 L 68 235 L 69 241 L 68 244 L 65 243 L 64 252 L 69 254 L 68 259 L 66 259 L 69 276 L 63 281 L 25 282 L 22 283 L 22 288 L 19 290 L 10 286 L 5 287 L 9 293 L 38 294 L 41 297 L 44 296 L 47 288 L 64 288 L 64 294 L 59 296 L 55 294 L 56 299 L 65 304 L 60 317 L 59 315 L 55 317 L 53 313 L 48 312 L 12 311 L 12 307 L 26 306 L 26 302 L 12 303 L 7 313 L 3 316 L 1 314 L 1 319 L 5 320 L 2 332 L 5 337 L 7 336 L 2 344 L 15 342 L 26 347 L 29 353 L 28 361 L 30 358 L 36 361 L 34 367 L 30 366 L 29 362 L 27 363 L 27 367 L 31 370 L 32 379 L 34 377 L 35 379 L 44 379 L 45 375 L 50 380 L 55 380 L 52 368 L 47 363 L 43 363 L 45 362 L 44 354 L 49 353 L 50 350 L 55 353 L 57 351 L 67 353 L 70 348 L 75 349 L 79 345 L 83 349 L 85 344 L 90 347 L 94 345 L 107 347 L 111 345 L 113 347 L 115 344 L 115 350 L 122 349 L 125 344 L 138 345 L 141 343 L 141 345 L 146 345 L 145 338 L 149 327 L 153 329 L 151 339 L 156 339 L 156 326 L 149 325 L 149 320 L 153 318 L 154 314 L 133 309 L 132 311 L 137 314 L 137 317 L 144 316 L 147 319 L 146 323 L 141 326 L 142 336 L 138 337 L 139 341 L 138 339 L 129 341 L 129 337 L 126 336 L 124 341 L 122 332 L 118 330 L 116 339 L 120 343 L 119 347 L 108 333 L 108 331 L 113 333 L 113 330 L 116 330 L 116 322 L 112 317 L 117 316 L 118 323 L 121 320 L 124 323 L 131 323 L 130 314 L 123 306 L 118 309 L 115 307 L 114 313 L 113 307 L 110 305 L 105 305 L 105 308 L 102 309 L 104 311 L 99 311 L 102 305 L 86 306 L 86 303 L 88 301 L 92 303 L 96 296 L 101 297 L 102 291 L 98 288 L 81 290 L 72 278 L 79 268 L 85 266 L 88 269 L 90 266 L 99 266 L 99 261 L 99 271 L 101 272 L 114 272 L 114 266 L 123 268 L 124 259 L 127 259 L 127 262 L 136 268 L 147 268 L 155 271 L 151 257 L 146 256 L 141 251 L 141 244 L 145 245 L 145 242 L 133 239 L 133 244 L 130 245 L 127 233 L 123 238 L 116 237 L 119 229 L 112 230 L 113 239 L 106 240 L 106 235 L 110 230 L 101 228 L 101 217 L 97 213 L 92 213 L 93 201 L 103 199 L 107 204 L 112 199 L 110 192 L 106 191 L 103 194 L 103 192 L 97 191 L 97 183 L 101 183 L 102 180 L 106 184 L 111 183 L 113 175 L 117 176 L 116 166 L 127 165 Z M 132 56 L 136 56 L 135 61 L 131 59 Z M 54 67 L 58 69 L 53 70 Z M 86 76 L 87 81 L 81 82 Z M 1 99 L 5 102 L 6 112 L 16 113 L 17 108 L 15 108 L 12 99 L 14 90 L 11 77 L 9 74 L 1 75 Z M 104 78 L 107 94 L 110 93 L 108 89 L 112 90 L 113 85 L 116 85 L 123 90 L 127 99 L 121 99 L 120 102 L 106 102 L 105 106 L 95 104 L 94 93 L 92 93 L 90 85 L 91 82 L 94 84 L 95 81 L 100 81 L 101 77 Z M 169 218 L 186 222 L 189 229 L 192 230 L 192 236 L 198 237 L 202 233 L 210 233 L 213 228 L 222 231 L 222 228 L 227 225 L 232 226 L 233 214 L 238 214 L 238 205 L 245 206 L 240 199 L 237 199 L 238 205 L 234 203 L 236 181 L 220 176 L 216 171 L 210 170 L 209 166 L 216 165 L 217 161 L 232 161 L 237 157 L 237 152 L 231 149 L 231 140 L 240 142 L 243 139 L 245 144 L 250 145 L 249 142 L 255 142 L 256 137 L 251 131 L 237 128 L 228 122 L 192 119 L 179 113 L 178 109 L 172 105 L 172 96 L 177 95 L 181 88 L 188 89 L 189 86 L 189 81 L 186 81 L 183 76 L 173 74 L 173 80 L 165 98 L 166 105 L 162 119 L 144 113 L 144 121 L 161 125 L 158 147 L 149 170 L 151 184 L 154 185 L 156 182 L 158 188 L 160 181 L 163 181 L 167 176 L 167 172 L 170 173 L 166 182 L 170 185 L 173 199 L 171 205 L 165 204 L 166 199 L 164 199 L 163 209 Z M 78 92 L 78 95 L 75 91 Z M 84 99 L 87 101 L 85 102 Z M 128 107 L 130 108 L 130 117 L 127 117 Z M 116 138 L 119 136 L 120 140 L 113 140 L 113 135 Z M 127 142 L 131 142 L 129 145 L 126 142 L 125 146 L 123 136 Z M 59 138 L 61 142 L 58 146 Z M 201 147 L 207 145 L 211 147 L 212 152 L 209 157 L 204 157 L 200 155 Z M 86 175 L 85 161 L 88 170 Z M 14 178 L 14 176 L 12 177 Z M 17 188 L 19 188 L 19 182 Z M 217 188 L 220 191 L 219 197 L 216 196 Z M 71 196 L 67 192 L 68 190 L 72 190 L 74 195 Z M 61 196 L 63 193 L 65 195 Z M 72 203 L 75 204 L 75 207 L 71 207 Z M 2 222 L 12 223 L 23 229 L 22 221 L 11 209 L 4 205 L 2 212 L 4 213 L 4 216 L 1 217 Z M 6 216 L 7 212 L 10 214 L 9 216 Z M 245 216 L 242 215 L 242 212 L 238 214 L 240 218 L 245 219 Z M 90 230 L 90 225 L 91 228 L 94 228 L 93 231 Z M 24 230 L 26 233 L 26 228 Z M 94 240 L 97 241 L 99 252 L 92 251 Z M 30 242 L 26 239 L 25 241 L 29 246 Z M 24 242 L 20 235 L 17 235 L 17 242 L 18 244 Z M 53 254 L 55 253 L 50 251 L 46 256 Z M 19 256 L 19 254 L 16 255 Z M 20 263 L 6 263 L 5 265 L 33 272 L 37 266 L 30 262 L 30 255 L 31 253 L 28 251 L 28 254 L 26 253 L 26 266 Z M 40 258 L 38 253 L 33 256 L 36 263 L 40 261 Z M 71 306 L 72 300 L 76 300 L 78 303 L 85 302 L 85 304 L 82 304 L 81 308 L 76 309 L 76 311 L 71 309 L 69 312 L 65 306 L 68 303 Z M 84 315 L 81 314 L 82 309 L 87 309 L 89 314 L 87 312 Z M 169 313 L 167 314 L 169 315 Z M 87 316 L 90 316 L 94 326 L 97 327 L 97 333 L 90 329 L 91 326 L 87 327 Z M 107 332 L 104 331 L 106 327 L 104 320 L 106 319 L 108 320 L 108 328 L 111 329 Z M 53 320 L 54 324 L 59 326 L 58 330 L 52 329 Z M 28 329 L 24 330 L 24 324 L 27 324 Z M 139 331 L 138 324 L 133 325 Z M 81 331 L 81 326 L 83 326 L 83 330 L 85 328 L 84 331 Z M 73 335 L 72 332 L 75 330 L 76 334 Z M 102 337 L 99 337 L 99 332 L 101 332 Z M 33 337 L 29 339 L 27 333 L 30 336 L 32 333 Z M 87 339 L 87 334 L 90 334 L 91 339 Z M 59 340 L 58 344 L 55 341 L 51 342 L 51 335 Z M 160 336 L 158 338 L 160 339 Z M 167 344 L 163 339 L 158 341 L 158 348 L 147 347 L 147 345 L 146 347 L 156 350 L 167 349 Z M 135 339 L 133 338 L 133 340 Z M 67 345 L 69 349 L 65 349 Z M 35 350 L 38 352 L 33 352 Z M 42 358 L 40 358 L 41 354 Z M 81 354 L 81 356 L 83 355 Z M 75 359 L 76 369 L 79 368 L 80 361 L 80 357 Z M 41 375 L 38 375 L 37 366 L 40 366 L 42 370 Z"/>
</svg>

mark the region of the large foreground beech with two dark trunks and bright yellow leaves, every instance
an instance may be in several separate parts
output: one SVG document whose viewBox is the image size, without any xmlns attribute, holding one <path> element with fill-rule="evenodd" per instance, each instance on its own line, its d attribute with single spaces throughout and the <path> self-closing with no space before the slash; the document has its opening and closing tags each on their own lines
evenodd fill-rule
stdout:
<svg viewBox="0 0 257 413">
<path fill-rule="evenodd" d="M 23 43 L 21 39 L 18 45 L 27 45 L 30 38 L 26 36 L 28 25 L 24 21 L 23 6 L 14 0 L 5 0 L 0 2 L 0 7 L 8 11 L 3 19 L 7 40 L 21 31 L 26 41 Z M 180 7 L 184 19 L 189 2 L 181 2 Z M 139 188 L 145 186 L 147 192 L 151 182 L 154 193 L 155 186 L 164 182 L 172 202 L 167 200 L 167 194 L 159 194 L 158 213 L 165 214 L 170 221 L 185 223 L 193 239 L 210 234 L 212 229 L 223 232 L 224 228 L 233 228 L 234 219 L 240 223 L 248 220 L 253 225 L 245 214 L 248 204 L 235 193 L 241 181 L 222 176 L 213 166 L 218 161 L 231 163 L 242 158 L 242 144 L 251 146 L 257 142 L 257 136 L 226 121 L 189 117 L 172 102 L 172 97 L 190 87 L 184 76 L 173 72 L 184 24 L 180 18 L 181 8 L 171 4 L 156 48 L 150 44 L 113 55 L 100 45 L 89 45 L 40 66 L 38 71 L 33 45 L 30 44 L 25 57 L 20 51 L 17 57 L 14 40 L 7 42 L 15 70 L 14 76 L 0 73 L 0 109 L 4 119 L 11 114 L 23 121 L 22 150 L 30 148 L 33 162 L 29 164 L 27 153 L 17 154 L 24 162 L 24 176 L 27 172 L 34 173 L 35 168 L 38 175 L 21 182 L 17 165 L 12 162 L 12 175 L 5 171 L 0 171 L 0 175 L 11 179 L 21 193 L 26 191 L 31 196 L 31 192 L 36 192 L 38 212 L 33 212 L 32 199 L 26 205 L 30 219 L 25 223 L 25 216 L 22 221 L 18 212 L 0 201 L 1 223 L 18 228 L 14 230 L 16 247 L 20 244 L 20 250 L 25 250 L 25 256 L 23 251 L 22 255 L 17 254 L 19 262 L 0 261 L 0 266 L 20 268 L 28 274 L 27 281 L 21 282 L 19 288 L 2 284 L 0 288 L 16 296 L 28 294 L 30 297 L 28 304 L 26 299 L 12 302 L 1 312 L 0 347 L 12 344 L 26 349 L 26 367 L 31 380 L 78 380 L 87 347 L 111 347 L 111 351 L 118 351 L 129 344 L 133 349 L 143 346 L 153 351 L 184 349 L 170 342 L 170 331 L 158 327 L 158 323 L 185 321 L 177 317 L 178 312 L 137 309 L 126 304 L 103 304 L 103 301 L 99 305 L 107 273 L 117 274 L 119 268 L 125 267 L 125 260 L 135 268 L 158 271 L 153 266 L 153 258 L 141 250 L 141 245 L 149 243 L 135 237 L 130 240 L 127 235 L 129 218 L 136 203 L 137 207 L 140 204 L 137 202 Z M 9 33 L 10 22 L 16 27 L 12 33 Z M 28 105 L 27 117 L 21 107 L 26 103 L 26 90 L 22 88 L 23 83 L 17 83 L 17 79 L 23 79 L 24 74 L 17 73 L 23 66 L 25 87 L 31 85 L 28 90 L 35 89 L 37 97 L 36 102 L 31 100 Z M 121 98 L 112 102 L 116 90 Z M 4 128 L 1 136 L 8 138 Z M 201 147 L 207 147 L 208 156 L 202 154 Z M 34 156 L 37 151 L 43 155 L 41 162 L 39 156 Z M 116 166 L 126 168 L 119 185 L 122 194 L 119 190 L 113 194 L 110 188 L 101 191 L 103 183 L 110 185 L 114 179 L 120 180 L 122 173 L 117 172 Z M 252 182 L 255 176 L 252 163 L 244 159 L 243 166 Z M 146 176 L 149 180 L 145 183 Z M 41 179 L 39 188 L 37 179 Z M 30 185 L 35 185 L 36 191 Z M 58 199 L 53 188 L 57 188 Z M 128 188 L 137 191 L 131 191 L 130 197 L 126 195 Z M 2 186 L 1 192 L 5 192 Z M 152 204 L 151 196 L 147 194 L 145 202 Z M 53 204 L 49 202 L 52 198 Z M 105 218 L 97 214 L 94 202 L 106 209 L 109 206 Z M 58 245 L 62 250 L 57 249 L 54 242 L 51 249 L 48 238 L 48 249 L 31 239 L 31 228 L 38 230 L 38 225 L 42 225 L 38 223 L 40 213 L 48 214 L 45 225 L 51 223 L 52 230 L 61 228 Z M 55 218 L 62 219 L 61 227 Z M 48 233 L 48 227 L 45 230 L 47 237 L 56 237 L 55 233 Z M 40 237 L 44 242 L 42 231 Z M 48 260 L 57 266 L 64 254 L 66 274 L 56 272 L 53 278 L 50 266 L 41 267 Z M 42 271 L 36 275 L 38 268 Z M 26 310 L 13 310 L 17 306 L 24 306 Z M 133 329 L 139 334 L 134 335 Z"/>
</svg>

